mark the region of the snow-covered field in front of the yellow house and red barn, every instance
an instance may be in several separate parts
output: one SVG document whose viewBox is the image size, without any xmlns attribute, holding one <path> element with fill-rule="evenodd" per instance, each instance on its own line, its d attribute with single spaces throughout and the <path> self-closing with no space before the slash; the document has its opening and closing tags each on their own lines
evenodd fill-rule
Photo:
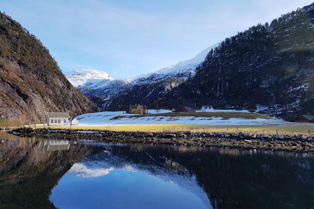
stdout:
<svg viewBox="0 0 314 209">
<path fill-rule="evenodd" d="M 170 110 L 161 110 L 160 113 L 171 112 Z M 247 112 L 247 111 L 232 111 L 232 110 L 219 110 L 217 112 Z M 150 113 L 156 113 L 151 110 Z M 103 125 L 132 125 L 132 124 L 193 124 L 193 125 L 284 125 L 287 122 L 279 121 L 276 119 L 241 119 L 241 118 L 230 118 L 228 120 L 222 120 L 222 118 L 206 118 L 206 117 L 141 117 L 141 118 L 119 118 L 116 120 L 110 120 L 111 118 L 124 115 L 130 116 L 131 114 L 120 112 L 96 112 L 79 115 L 78 119 L 79 126 L 103 126 Z M 184 113 L 182 113 L 184 115 Z"/>
</svg>

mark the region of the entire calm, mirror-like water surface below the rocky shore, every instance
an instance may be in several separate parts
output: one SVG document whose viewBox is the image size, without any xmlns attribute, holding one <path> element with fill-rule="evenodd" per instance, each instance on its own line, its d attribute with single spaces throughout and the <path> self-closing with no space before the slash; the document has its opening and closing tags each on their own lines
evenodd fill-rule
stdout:
<svg viewBox="0 0 314 209">
<path fill-rule="evenodd" d="M 0 208 L 314 208 L 314 155 L 0 132 Z"/>
</svg>

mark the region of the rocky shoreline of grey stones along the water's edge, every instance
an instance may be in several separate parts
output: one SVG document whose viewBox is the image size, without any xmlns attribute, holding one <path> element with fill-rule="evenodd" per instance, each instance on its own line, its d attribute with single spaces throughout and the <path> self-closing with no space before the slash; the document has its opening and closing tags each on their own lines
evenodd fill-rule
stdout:
<svg viewBox="0 0 314 209">
<path fill-rule="evenodd" d="M 265 150 L 314 152 L 314 136 L 252 134 L 252 133 L 192 133 L 187 132 L 127 132 L 90 129 L 17 128 L 8 133 L 17 136 L 91 139 L 115 142 L 165 143 L 195 146 L 225 146 Z"/>
</svg>

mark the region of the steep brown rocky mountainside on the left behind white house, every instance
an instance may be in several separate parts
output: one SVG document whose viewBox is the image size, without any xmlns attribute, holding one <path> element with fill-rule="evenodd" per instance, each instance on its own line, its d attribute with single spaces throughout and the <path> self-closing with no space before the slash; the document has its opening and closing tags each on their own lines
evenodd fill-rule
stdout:
<svg viewBox="0 0 314 209">
<path fill-rule="evenodd" d="M 39 39 L 0 13 L 0 118 L 19 118 L 35 104 L 73 115 L 99 109 L 70 84 Z"/>
</svg>

